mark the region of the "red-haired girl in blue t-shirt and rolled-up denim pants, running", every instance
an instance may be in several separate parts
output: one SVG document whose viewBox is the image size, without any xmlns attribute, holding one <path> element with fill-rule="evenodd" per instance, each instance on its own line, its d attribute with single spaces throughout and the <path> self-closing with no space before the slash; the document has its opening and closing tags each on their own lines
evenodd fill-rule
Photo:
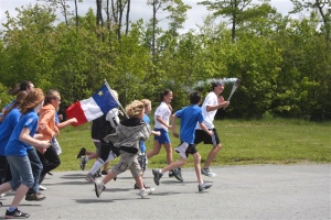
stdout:
<svg viewBox="0 0 331 220">
<path fill-rule="evenodd" d="M 28 151 L 33 146 L 47 148 L 50 142 L 40 141 L 40 135 L 35 135 L 38 128 L 38 112 L 43 106 L 44 94 L 42 89 L 31 90 L 20 106 L 22 117 L 15 125 L 6 146 L 6 155 L 10 165 L 12 179 L 0 185 L 0 194 L 14 190 L 15 196 L 6 211 L 6 219 L 9 218 L 29 218 L 18 209 L 29 188 L 33 186 L 34 178 Z"/>
</svg>

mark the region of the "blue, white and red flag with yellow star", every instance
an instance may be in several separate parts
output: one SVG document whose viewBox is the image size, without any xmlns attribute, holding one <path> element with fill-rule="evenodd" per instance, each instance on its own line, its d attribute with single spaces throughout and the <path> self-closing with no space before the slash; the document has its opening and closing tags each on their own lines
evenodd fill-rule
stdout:
<svg viewBox="0 0 331 220">
<path fill-rule="evenodd" d="M 93 97 L 77 101 L 70 106 L 66 110 L 68 119 L 76 118 L 77 123 L 72 123 L 73 127 L 95 120 L 107 113 L 110 109 L 118 107 L 117 99 L 113 96 L 109 87 L 105 84 Z"/>
</svg>

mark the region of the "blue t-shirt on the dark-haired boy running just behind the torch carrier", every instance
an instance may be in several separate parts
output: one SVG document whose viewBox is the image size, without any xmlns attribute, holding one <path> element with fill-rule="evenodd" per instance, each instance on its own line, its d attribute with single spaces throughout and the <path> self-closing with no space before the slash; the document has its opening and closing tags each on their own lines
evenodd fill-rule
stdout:
<svg viewBox="0 0 331 220">
<path fill-rule="evenodd" d="M 180 140 L 193 144 L 195 125 L 204 121 L 202 109 L 197 105 L 192 105 L 177 111 L 174 114 L 181 119 Z"/>
</svg>

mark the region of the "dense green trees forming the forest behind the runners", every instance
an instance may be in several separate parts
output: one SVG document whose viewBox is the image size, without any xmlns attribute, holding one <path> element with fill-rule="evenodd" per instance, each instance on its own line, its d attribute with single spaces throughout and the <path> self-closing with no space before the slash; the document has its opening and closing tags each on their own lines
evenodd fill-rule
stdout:
<svg viewBox="0 0 331 220">
<path fill-rule="evenodd" d="M 17 8 L 17 16 L 7 12 L 1 109 L 14 98 L 8 90 L 22 80 L 44 91 L 58 89 L 64 112 L 105 80 L 124 107 L 142 98 L 156 107 L 169 88 L 178 110 L 189 105 L 191 91 L 205 96 L 212 79 L 238 78 L 229 107 L 218 111 L 223 118 L 331 119 L 330 0 L 291 0 L 295 8 L 286 15 L 269 0 L 197 0 L 211 13 L 186 32 L 191 7 L 182 0 L 147 0 L 152 16 L 135 22 L 130 0 L 95 0 L 96 9 L 86 14 L 77 13 L 84 0 L 74 0 L 74 9 L 68 1 L 40 0 Z M 160 25 L 164 12 L 167 28 Z M 300 12 L 305 15 L 290 16 Z M 226 84 L 225 99 L 232 87 Z"/>
</svg>

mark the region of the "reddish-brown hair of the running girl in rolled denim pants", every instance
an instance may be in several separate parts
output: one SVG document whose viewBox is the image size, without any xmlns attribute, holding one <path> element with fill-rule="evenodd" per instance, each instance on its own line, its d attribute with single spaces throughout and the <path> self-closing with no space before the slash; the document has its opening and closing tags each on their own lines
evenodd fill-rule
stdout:
<svg viewBox="0 0 331 220">
<path fill-rule="evenodd" d="M 34 107 L 41 103 L 44 100 L 44 98 L 45 96 L 42 89 L 40 88 L 32 89 L 20 106 L 21 113 L 24 114 L 29 110 L 34 109 Z"/>
</svg>

